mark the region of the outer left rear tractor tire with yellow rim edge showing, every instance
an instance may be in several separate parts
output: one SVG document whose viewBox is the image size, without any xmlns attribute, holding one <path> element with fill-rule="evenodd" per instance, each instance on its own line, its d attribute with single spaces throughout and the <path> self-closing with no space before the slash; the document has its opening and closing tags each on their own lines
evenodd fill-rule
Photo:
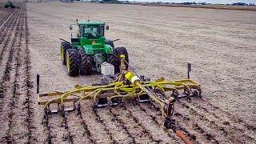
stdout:
<svg viewBox="0 0 256 144">
<path fill-rule="evenodd" d="M 79 54 L 76 49 L 66 50 L 66 68 L 70 77 L 79 75 Z"/>
</svg>

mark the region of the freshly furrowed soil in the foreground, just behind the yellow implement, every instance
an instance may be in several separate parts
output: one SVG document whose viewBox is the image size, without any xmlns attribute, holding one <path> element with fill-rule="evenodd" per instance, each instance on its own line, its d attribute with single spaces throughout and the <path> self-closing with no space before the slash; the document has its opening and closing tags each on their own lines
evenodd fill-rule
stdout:
<svg viewBox="0 0 256 144">
<path fill-rule="evenodd" d="M 175 105 L 177 127 L 194 143 L 254 143 L 255 127 L 234 118 L 203 99 L 182 99 Z M 182 143 L 173 130 L 163 126 L 154 102 L 93 109 L 63 117 L 52 114 L 46 120 L 46 142 L 64 143 Z M 214 111 L 210 111 L 214 110 Z M 51 123 L 51 125 L 49 125 Z M 248 133 L 250 131 L 250 133 Z M 58 133 L 56 133 L 58 132 Z"/>
</svg>

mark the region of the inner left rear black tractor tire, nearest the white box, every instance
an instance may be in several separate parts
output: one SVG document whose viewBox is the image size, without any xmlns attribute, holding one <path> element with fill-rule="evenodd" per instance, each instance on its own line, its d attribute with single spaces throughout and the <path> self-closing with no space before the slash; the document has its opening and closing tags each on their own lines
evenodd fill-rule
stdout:
<svg viewBox="0 0 256 144">
<path fill-rule="evenodd" d="M 93 71 L 92 58 L 86 54 L 85 50 L 79 50 L 79 70 L 81 75 L 90 75 Z"/>
</svg>

